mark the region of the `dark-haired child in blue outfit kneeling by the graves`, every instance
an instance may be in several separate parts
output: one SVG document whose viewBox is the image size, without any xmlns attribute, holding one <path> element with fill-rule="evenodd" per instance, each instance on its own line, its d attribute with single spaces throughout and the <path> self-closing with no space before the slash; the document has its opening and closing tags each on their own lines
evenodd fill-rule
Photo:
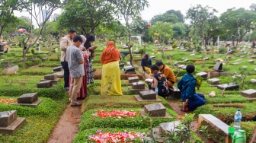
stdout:
<svg viewBox="0 0 256 143">
<path fill-rule="evenodd" d="M 187 74 L 178 81 L 178 88 L 181 91 L 181 99 L 183 101 L 182 111 L 195 110 L 198 106 L 204 105 L 206 102 L 202 94 L 196 94 L 197 79 L 194 78 L 194 65 L 187 65 Z"/>
</svg>

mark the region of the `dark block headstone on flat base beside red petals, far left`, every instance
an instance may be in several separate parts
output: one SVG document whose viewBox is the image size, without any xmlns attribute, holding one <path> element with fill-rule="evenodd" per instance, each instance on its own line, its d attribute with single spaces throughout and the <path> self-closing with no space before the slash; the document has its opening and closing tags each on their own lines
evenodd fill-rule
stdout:
<svg viewBox="0 0 256 143">
<path fill-rule="evenodd" d="M 30 93 L 21 95 L 21 97 L 18 97 L 18 103 L 13 104 L 21 106 L 37 106 L 41 101 L 41 99 L 38 99 L 37 93 Z"/>
</svg>

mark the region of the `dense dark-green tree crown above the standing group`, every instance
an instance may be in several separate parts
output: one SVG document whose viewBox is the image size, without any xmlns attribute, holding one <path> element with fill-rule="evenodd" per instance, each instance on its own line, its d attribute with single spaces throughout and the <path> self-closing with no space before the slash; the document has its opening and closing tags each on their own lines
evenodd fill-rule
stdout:
<svg viewBox="0 0 256 143">
<path fill-rule="evenodd" d="M 59 16 L 62 28 L 73 28 L 83 33 L 94 33 L 101 24 L 106 26 L 114 21 L 114 7 L 104 0 L 74 0 L 63 8 Z M 74 22 L 75 21 L 75 22 Z"/>
</svg>

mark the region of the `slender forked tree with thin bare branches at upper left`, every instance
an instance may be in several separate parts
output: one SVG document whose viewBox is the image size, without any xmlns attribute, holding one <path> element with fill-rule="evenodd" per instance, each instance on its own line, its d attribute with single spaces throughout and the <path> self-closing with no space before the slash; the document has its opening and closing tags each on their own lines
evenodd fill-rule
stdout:
<svg viewBox="0 0 256 143">
<path fill-rule="evenodd" d="M 28 50 L 31 46 L 34 46 L 35 43 L 37 43 L 37 40 L 39 39 L 40 35 L 43 32 L 43 29 L 46 25 L 46 21 L 49 20 L 50 16 L 53 14 L 53 11 L 55 11 L 57 8 L 60 8 L 62 5 L 62 2 L 60 0 L 23 0 L 21 1 L 22 4 L 30 3 L 30 5 L 27 5 L 25 8 L 25 11 L 28 11 L 29 14 L 34 18 L 36 21 L 37 26 L 39 27 L 39 33 L 35 39 L 33 39 L 33 35 L 30 34 L 29 36 L 26 36 L 21 38 L 21 43 L 23 43 L 24 49 L 23 49 L 23 68 L 26 67 L 26 55 Z M 34 10 L 34 11 L 33 11 Z M 43 16 L 43 22 L 40 21 L 40 15 Z M 29 43 L 30 41 L 30 43 Z"/>
</svg>

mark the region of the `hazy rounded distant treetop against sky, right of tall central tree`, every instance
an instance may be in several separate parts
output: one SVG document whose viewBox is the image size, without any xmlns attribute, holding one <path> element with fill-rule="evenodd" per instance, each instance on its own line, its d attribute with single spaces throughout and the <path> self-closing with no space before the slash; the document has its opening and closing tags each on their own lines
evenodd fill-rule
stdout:
<svg viewBox="0 0 256 143">
<path fill-rule="evenodd" d="M 166 11 L 164 14 L 158 14 L 152 17 L 150 23 L 152 25 L 156 24 L 158 21 L 169 22 L 172 24 L 184 23 L 184 16 L 181 14 L 181 11 L 175 11 L 173 9 Z"/>
</svg>

